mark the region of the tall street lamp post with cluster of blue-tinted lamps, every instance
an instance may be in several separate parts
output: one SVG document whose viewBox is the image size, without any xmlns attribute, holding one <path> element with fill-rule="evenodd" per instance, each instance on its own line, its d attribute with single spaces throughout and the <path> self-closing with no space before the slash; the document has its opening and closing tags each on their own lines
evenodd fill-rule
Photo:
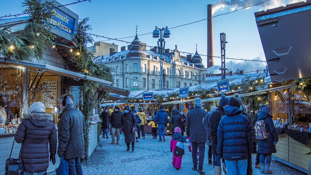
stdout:
<svg viewBox="0 0 311 175">
<path fill-rule="evenodd" d="M 159 36 L 160 35 L 160 36 Z M 156 30 L 153 30 L 152 37 L 153 38 L 159 38 L 158 40 L 158 48 L 160 49 L 160 89 L 163 90 L 163 52 L 165 48 L 165 40 L 164 38 L 169 38 L 169 35 L 171 35 L 170 31 L 167 29 L 167 26 L 165 28 L 157 28 Z"/>
</svg>

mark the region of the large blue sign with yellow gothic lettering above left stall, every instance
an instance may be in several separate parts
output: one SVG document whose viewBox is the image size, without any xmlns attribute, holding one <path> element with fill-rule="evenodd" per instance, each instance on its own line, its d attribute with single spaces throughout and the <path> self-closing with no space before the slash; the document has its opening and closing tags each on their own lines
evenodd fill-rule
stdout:
<svg viewBox="0 0 311 175">
<path fill-rule="evenodd" d="M 52 12 L 52 18 L 49 18 L 46 22 L 51 24 L 52 27 L 56 27 L 70 35 L 73 35 L 75 19 L 67 15 L 66 13 L 58 10 L 57 8 L 53 8 Z"/>
</svg>

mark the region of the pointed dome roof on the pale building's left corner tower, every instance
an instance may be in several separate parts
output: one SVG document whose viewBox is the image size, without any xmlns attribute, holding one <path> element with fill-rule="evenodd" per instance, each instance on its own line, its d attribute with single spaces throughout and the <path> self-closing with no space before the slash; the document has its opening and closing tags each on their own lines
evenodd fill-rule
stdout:
<svg viewBox="0 0 311 175">
<path fill-rule="evenodd" d="M 129 52 L 126 54 L 126 58 L 147 58 L 146 54 L 143 52 L 142 42 L 139 41 L 137 33 L 130 45 Z"/>
</svg>

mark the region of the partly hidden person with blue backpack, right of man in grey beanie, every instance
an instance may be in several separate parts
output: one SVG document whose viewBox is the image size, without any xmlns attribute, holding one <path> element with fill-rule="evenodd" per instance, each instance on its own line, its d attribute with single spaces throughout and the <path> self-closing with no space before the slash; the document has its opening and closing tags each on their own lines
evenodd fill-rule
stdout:
<svg viewBox="0 0 311 175">
<path fill-rule="evenodd" d="M 205 134 L 206 134 L 206 145 L 208 145 L 208 165 L 213 164 L 215 166 L 215 156 L 213 156 L 213 162 L 212 162 L 212 136 L 211 136 L 211 115 L 214 111 L 216 111 L 217 107 L 212 106 L 211 111 L 206 114 L 206 116 L 203 119 L 204 128 L 205 128 Z"/>
</svg>

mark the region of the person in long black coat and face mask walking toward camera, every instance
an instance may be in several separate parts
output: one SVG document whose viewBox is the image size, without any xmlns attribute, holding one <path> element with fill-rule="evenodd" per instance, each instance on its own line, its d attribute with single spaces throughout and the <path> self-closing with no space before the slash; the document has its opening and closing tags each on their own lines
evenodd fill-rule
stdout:
<svg viewBox="0 0 311 175">
<path fill-rule="evenodd" d="M 134 113 L 132 113 L 131 108 L 127 105 L 124 108 L 124 113 L 121 116 L 121 126 L 123 126 L 124 131 L 124 141 L 128 147 L 126 151 L 130 150 L 130 143 L 132 144 L 132 152 L 134 152 L 135 144 L 135 129 L 137 125 L 137 119 Z"/>
</svg>

